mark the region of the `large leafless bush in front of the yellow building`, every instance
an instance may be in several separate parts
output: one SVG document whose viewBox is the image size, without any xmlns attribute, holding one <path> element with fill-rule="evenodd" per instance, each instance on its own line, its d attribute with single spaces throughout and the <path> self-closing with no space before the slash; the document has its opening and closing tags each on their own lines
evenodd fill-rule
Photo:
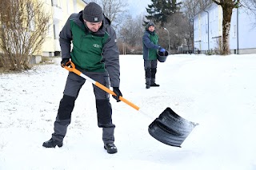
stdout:
<svg viewBox="0 0 256 170">
<path fill-rule="evenodd" d="M 41 50 L 50 21 L 42 3 L 33 0 L 2 0 L 0 9 L 0 58 L 6 69 L 30 69 L 32 54 Z"/>
</svg>

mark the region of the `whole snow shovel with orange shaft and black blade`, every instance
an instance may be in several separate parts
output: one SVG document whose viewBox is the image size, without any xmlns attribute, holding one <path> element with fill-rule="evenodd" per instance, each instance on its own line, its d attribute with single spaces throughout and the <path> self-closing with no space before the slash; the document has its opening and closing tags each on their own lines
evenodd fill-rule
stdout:
<svg viewBox="0 0 256 170">
<path fill-rule="evenodd" d="M 106 86 L 100 84 L 98 81 L 94 81 L 90 77 L 87 77 L 78 69 L 75 69 L 75 65 L 72 61 L 69 62 L 70 66 L 65 66 L 65 69 L 85 78 L 87 81 L 90 81 L 93 85 L 96 85 L 98 88 L 104 90 L 106 93 L 110 93 L 111 95 L 116 96 L 116 94 L 112 90 L 106 88 Z M 132 102 L 127 101 L 124 97 L 119 97 L 119 100 L 125 102 L 127 105 L 130 105 L 134 109 L 143 113 L 137 105 L 134 105 Z M 194 129 L 196 125 L 198 124 L 191 121 L 186 121 L 186 119 L 174 113 L 172 109 L 166 108 L 160 114 L 160 116 L 149 125 L 148 131 L 151 136 L 153 136 L 156 140 L 162 142 L 163 144 L 168 144 L 174 147 L 181 147 L 183 141 L 186 140 L 186 137 L 190 134 L 190 132 Z"/>
</svg>

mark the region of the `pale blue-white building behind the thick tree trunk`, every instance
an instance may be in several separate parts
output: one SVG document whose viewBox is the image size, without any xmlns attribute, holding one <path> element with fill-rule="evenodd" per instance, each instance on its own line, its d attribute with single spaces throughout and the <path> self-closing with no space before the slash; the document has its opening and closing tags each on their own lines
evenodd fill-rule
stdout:
<svg viewBox="0 0 256 170">
<path fill-rule="evenodd" d="M 219 48 L 222 38 L 222 7 L 215 3 L 207 6 L 193 18 L 194 51 L 208 53 Z M 256 53 L 254 16 L 245 7 L 233 9 L 230 23 L 230 52 Z"/>
</svg>

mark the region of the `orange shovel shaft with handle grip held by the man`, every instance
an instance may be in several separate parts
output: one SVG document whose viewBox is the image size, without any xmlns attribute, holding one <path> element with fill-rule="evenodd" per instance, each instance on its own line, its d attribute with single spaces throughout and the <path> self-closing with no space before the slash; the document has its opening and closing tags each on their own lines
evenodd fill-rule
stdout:
<svg viewBox="0 0 256 170">
<path fill-rule="evenodd" d="M 81 77 L 85 78 L 87 81 L 90 81 L 92 84 L 94 84 L 98 88 L 104 90 L 106 93 L 110 93 L 111 95 L 116 96 L 116 94 L 112 90 L 108 89 L 106 86 L 100 84 L 98 81 L 94 81 L 93 79 L 91 79 L 90 77 L 86 76 L 85 74 L 83 74 L 78 69 L 75 69 L 75 66 L 74 66 L 73 62 L 70 61 L 70 65 L 71 65 L 71 67 L 65 66 L 64 68 L 69 70 L 70 72 L 78 74 L 78 76 L 81 76 Z M 119 97 L 119 100 L 125 102 L 127 105 L 130 105 L 131 107 L 133 107 L 136 110 L 140 109 L 137 105 L 134 105 L 132 102 L 127 101 L 124 97 Z"/>
</svg>

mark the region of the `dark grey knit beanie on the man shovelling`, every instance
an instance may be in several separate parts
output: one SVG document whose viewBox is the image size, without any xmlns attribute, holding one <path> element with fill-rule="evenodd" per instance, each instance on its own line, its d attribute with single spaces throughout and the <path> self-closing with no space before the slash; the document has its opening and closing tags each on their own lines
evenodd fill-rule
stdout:
<svg viewBox="0 0 256 170">
<path fill-rule="evenodd" d="M 90 2 L 82 11 L 82 18 L 87 22 L 102 22 L 102 7 L 95 2 Z"/>
</svg>

